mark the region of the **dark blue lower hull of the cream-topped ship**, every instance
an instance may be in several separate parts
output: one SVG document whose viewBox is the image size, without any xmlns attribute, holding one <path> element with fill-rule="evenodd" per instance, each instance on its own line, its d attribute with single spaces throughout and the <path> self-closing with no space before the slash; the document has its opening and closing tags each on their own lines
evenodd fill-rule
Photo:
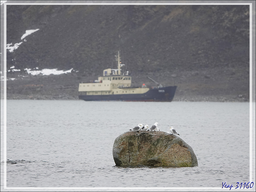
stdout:
<svg viewBox="0 0 256 192">
<path fill-rule="evenodd" d="M 113 95 L 79 95 L 85 101 L 122 100 L 122 101 L 172 101 L 177 86 L 150 89 L 142 94 L 113 94 Z"/>
</svg>

